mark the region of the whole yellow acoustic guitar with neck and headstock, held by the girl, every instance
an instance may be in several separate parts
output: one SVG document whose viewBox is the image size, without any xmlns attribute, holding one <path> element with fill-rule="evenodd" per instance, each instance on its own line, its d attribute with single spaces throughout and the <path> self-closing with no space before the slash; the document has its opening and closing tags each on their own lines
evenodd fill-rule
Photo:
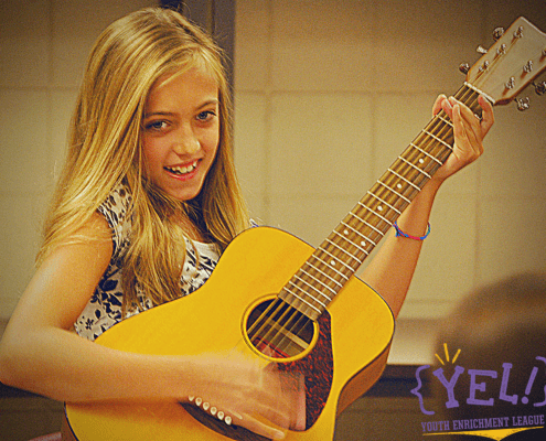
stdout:
<svg viewBox="0 0 546 441">
<path fill-rule="evenodd" d="M 520 18 L 468 69 L 454 97 L 480 115 L 480 94 L 507 104 L 545 68 L 546 34 Z M 96 343 L 146 354 L 239 351 L 264 367 L 275 363 L 304 383 L 304 428 L 286 439 L 332 440 L 340 412 L 379 378 L 395 326 L 385 301 L 354 272 L 452 144 L 452 122 L 440 111 L 320 247 L 275 228 L 250 228 L 196 292 L 116 324 Z M 265 440 L 197 398 L 66 404 L 66 435 L 78 441 Z"/>
</svg>

